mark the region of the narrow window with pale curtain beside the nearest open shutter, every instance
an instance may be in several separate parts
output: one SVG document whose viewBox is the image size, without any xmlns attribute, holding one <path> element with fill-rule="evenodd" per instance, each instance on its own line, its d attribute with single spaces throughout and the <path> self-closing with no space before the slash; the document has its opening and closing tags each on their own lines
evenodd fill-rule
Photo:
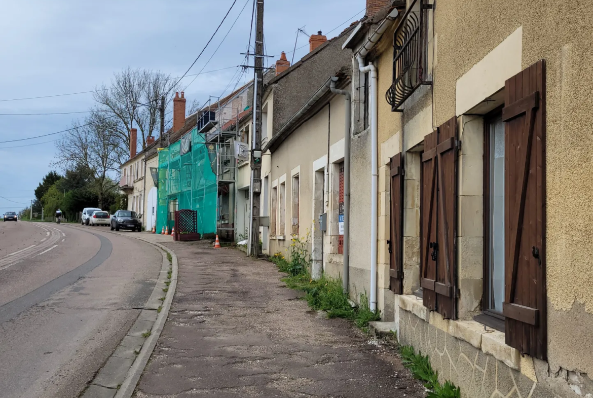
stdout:
<svg viewBox="0 0 593 398">
<path fill-rule="evenodd" d="M 505 125 L 500 109 L 484 119 L 484 314 L 504 330 Z"/>
</svg>

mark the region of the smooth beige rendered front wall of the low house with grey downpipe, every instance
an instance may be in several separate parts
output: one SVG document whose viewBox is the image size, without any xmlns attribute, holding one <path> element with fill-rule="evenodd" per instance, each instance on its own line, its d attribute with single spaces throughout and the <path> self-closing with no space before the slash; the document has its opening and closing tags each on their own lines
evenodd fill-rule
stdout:
<svg viewBox="0 0 593 398">
<path fill-rule="evenodd" d="M 315 160 L 328 154 L 329 145 L 334 145 L 344 136 L 344 98 L 333 97 L 329 107 L 326 105 L 307 122 L 299 126 L 270 157 L 270 184 L 286 176 L 285 240 L 270 238 L 270 253 L 285 253 L 290 244 L 292 218 L 292 172 L 299 168 L 299 237 L 305 237 L 313 227 L 313 189 Z M 329 125 L 328 125 L 329 122 Z M 329 131 L 328 131 L 329 129 Z M 264 157 L 265 159 L 265 157 Z M 325 166 L 326 164 L 324 164 Z M 331 164 L 330 164 L 331 165 Z M 330 167 L 330 170 L 333 169 Z M 332 175 L 330 174 L 330 179 Z M 271 186 L 271 185 L 270 185 Z M 280 182 L 278 183 L 280 186 Z M 270 193 L 272 190 L 270 189 Z M 330 198 L 325 198 L 329 203 Z M 269 201 L 271 203 L 271 200 Z M 327 209 L 327 207 L 326 207 Z M 280 202 L 278 202 L 278 211 Z M 315 217 L 316 218 L 316 217 Z M 277 218 L 278 224 L 280 216 Z M 318 228 L 318 223 L 315 222 Z M 330 227 L 329 227 L 330 228 Z M 335 228 L 335 227 L 334 227 Z M 310 244 L 311 247 L 311 244 Z"/>
</svg>

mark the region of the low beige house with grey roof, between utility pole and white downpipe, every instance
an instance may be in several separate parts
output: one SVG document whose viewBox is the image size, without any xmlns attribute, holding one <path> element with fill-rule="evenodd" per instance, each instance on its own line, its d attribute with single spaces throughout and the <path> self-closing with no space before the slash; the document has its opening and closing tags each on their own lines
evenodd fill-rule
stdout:
<svg viewBox="0 0 593 398">
<path fill-rule="evenodd" d="M 264 253 L 289 253 L 292 238 L 306 240 L 313 277 L 342 275 L 343 170 L 346 101 L 350 90 L 349 28 L 327 40 L 310 37 L 310 52 L 290 66 L 283 53 L 264 88 L 262 107 L 262 227 Z M 348 101 L 349 106 L 349 101 Z M 320 220 L 322 220 L 320 222 Z"/>
</svg>

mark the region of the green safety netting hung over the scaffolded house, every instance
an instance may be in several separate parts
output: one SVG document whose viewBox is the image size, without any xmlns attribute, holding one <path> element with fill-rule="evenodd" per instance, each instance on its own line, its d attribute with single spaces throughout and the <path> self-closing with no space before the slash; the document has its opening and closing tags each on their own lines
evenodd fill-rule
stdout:
<svg viewBox="0 0 593 398">
<path fill-rule="evenodd" d="M 197 211 L 198 233 L 216 233 L 216 174 L 197 129 L 159 152 L 157 195 L 157 233 L 165 226 L 171 230 L 181 209 Z"/>
</svg>

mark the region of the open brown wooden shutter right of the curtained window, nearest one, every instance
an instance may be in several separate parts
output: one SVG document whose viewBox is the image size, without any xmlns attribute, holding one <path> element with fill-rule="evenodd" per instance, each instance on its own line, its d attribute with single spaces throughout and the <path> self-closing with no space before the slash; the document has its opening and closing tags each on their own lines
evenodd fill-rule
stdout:
<svg viewBox="0 0 593 398">
<path fill-rule="evenodd" d="M 546 359 L 546 65 L 505 82 L 505 339 Z"/>
</svg>

